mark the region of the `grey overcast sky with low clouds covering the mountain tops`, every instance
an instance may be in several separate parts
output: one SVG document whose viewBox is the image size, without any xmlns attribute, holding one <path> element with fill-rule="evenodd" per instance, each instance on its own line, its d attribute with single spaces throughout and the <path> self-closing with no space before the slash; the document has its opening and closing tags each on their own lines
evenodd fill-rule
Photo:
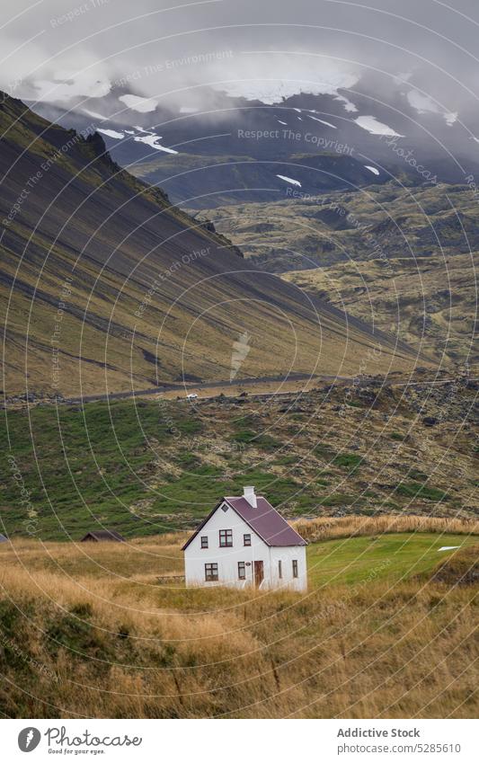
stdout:
<svg viewBox="0 0 479 763">
<path fill-rule="evenodd" d="M 3 0 L 2 11 L 0 86 L 17 97 L 68 107 L 120 84 L 152 103 L 195 103 L 205 85 L 274 99 L 368 75 L 379 94 L 399 78 L 447 111 L 477 110 L 477 0 Z"/>
</svg>

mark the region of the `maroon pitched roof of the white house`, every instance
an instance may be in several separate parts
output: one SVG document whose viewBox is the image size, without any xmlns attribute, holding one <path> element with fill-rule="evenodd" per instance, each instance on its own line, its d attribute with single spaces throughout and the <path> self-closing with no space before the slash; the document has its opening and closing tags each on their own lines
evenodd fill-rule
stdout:
<svg viewBox="0 0 479 763">
<path fill-rule="evenodd" d="M 267 501 L 262 495 L 258 495 L 256 500 L 257 507 L 253 509 L 253 506 L 243 496 L 225 496 L 208 514 L 208 517 L 201 522 L 200 527 L 187 540 L 182 550 L 184 551 L 187 546 L 190 546 L 193 538 L 198 535 L 200 529 L 206 525 L 208 519 L 213 516 L 224 501 L 244 519 L 267 546 L 307 546 L 306 540 L 288 525 L 286 519 L 283 519 L 276 509 L 273 509 L 270 501 Z"/>
</svg>

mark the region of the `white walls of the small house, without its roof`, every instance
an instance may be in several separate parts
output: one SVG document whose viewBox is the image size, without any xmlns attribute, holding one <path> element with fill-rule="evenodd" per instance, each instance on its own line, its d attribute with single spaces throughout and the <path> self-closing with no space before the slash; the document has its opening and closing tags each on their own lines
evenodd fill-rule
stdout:
<svg viewBox="0 0 479 763">
<path fill-rule="evenodd" d="M 227 505 L 227 504 L 223 504 Z M 233 546 L 219 546 L 219 530 L 233 531 Z M 244 546 L 244 534 L 251 535 L 251 546 Z M 208 548 L 201 548 L 201 537 L 208 537 Z M 283 579 L 278 578 L 278 561 L 283 561 Z M 298 578 L 293 578 L 292 560 L 297 559 Z M 193 538 L 184 552 L 185 580 L 188 586 L 226 585 L 244 588 L 253 585 L 254 562 L 262 561 L 264 581 L 262 590 L 268 588 L 306 589 L 305 546 L 268 546 L 253 529 L 236 514 L 235 510 L 221 507 L 208 519 L 206 525 Z M 246 579 L 238 580 L 238 562 L 246 563 Z M 205 564 L 217 563 L 218 581 L 205 581 Z M 249 564 L 248 564 L 249 563 Z"/>
</svg>

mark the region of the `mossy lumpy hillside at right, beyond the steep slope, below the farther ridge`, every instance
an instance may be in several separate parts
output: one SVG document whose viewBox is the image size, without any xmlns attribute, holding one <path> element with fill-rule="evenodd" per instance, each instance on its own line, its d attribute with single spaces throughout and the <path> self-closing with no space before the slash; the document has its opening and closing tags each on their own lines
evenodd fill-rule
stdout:
<svg viewBox="0 0 479 763">
<path fill-rule="evenodd" d="M 341 262 L 284 278 L 342 306 L 445 365 L 479 364 L 476 342 L 479 256 L 475 253 Z"/>
</svg>

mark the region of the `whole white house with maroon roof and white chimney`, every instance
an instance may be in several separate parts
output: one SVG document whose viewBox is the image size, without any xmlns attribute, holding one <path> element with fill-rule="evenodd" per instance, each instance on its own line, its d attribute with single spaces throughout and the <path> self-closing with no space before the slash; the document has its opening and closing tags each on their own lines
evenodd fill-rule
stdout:
<svg viewBox="0 0 479 763">
<path fill-rule="evenodd" d="M 306 540 L 253 487 L 226 496 L 183 546 L 188 586 L 306 590 Z"/>
</svg>

